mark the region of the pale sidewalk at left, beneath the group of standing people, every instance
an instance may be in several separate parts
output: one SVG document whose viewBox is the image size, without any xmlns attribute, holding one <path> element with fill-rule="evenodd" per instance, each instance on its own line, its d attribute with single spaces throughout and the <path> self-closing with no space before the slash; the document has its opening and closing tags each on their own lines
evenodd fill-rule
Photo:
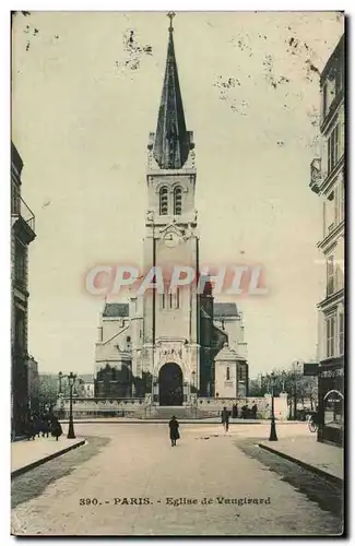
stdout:
<svg viewBox="0 0 355 546">
<path fill-rule="evenodd" d="M 68 440 L 64 435 L 58 441 L 49 437 L 13 442 L 11 443 L 11 477 L 24 474 L 84 443 L 84 438 Z"/>
</svg>

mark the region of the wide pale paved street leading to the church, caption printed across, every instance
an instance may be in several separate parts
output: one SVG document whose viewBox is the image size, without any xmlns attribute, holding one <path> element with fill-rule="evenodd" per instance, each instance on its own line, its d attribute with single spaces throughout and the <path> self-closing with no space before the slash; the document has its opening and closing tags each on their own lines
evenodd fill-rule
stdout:
<svg viewBox="0 0 355 546">
<path fill-rule="evenodd" d="M 221 425 L 185 425 L 171 448 L 164 424 L 78 425 L 87 446 L 13 479 L 13 533 L 341 533 L 339 489 L 258 448 L 268 430 L 233 425 L 224 436 Z M 277 434 L 308 431 L 301 424 Z"/>
</svg>

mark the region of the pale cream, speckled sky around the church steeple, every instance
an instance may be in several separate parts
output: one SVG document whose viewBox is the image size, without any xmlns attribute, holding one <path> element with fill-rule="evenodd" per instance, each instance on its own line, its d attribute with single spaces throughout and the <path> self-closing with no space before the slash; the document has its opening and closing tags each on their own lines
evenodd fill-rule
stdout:
<svg viewBox="0 0 355 546">
<path fill-rule="evenodd" d="M 267 295 L 235 299 L 251 377 L 307 361 L 324 288 L 322 203 L 309 165 L 319 155 L 319 72 L 343 19 L 182 12 L 174 26 L 196 142 L 201 261 L 265 273 Z M 14 19 L 12 139 L 36 215 L 28 351 L 40 372 L 94 370 L 104 300 L 85 292 L 85 275 L 97 263 L 141 262 L 167 27 L 163 12 Z"/>
</svg>

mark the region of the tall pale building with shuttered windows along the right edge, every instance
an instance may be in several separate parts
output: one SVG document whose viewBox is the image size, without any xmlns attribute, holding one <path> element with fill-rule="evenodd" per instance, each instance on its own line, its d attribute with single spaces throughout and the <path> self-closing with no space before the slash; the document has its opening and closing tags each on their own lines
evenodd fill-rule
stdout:
<svg viewBox="0 0 355 546">
<path fill-rule="evenodd" d="M 310 189 L 323 204 L 318 248 L 324 260 L 326 289 L 319 309 L 319 440 L 343 442 L 344 429 L 344 236 L 345 236 L 345 36 L 320 76 L 321 153 L 311 163 Z"/>
</svg>

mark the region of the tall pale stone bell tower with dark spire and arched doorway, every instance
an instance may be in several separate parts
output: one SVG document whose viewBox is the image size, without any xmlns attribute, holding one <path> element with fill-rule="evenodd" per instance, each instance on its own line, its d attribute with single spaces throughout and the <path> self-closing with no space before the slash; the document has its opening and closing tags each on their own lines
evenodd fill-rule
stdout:
<svg viewBox="0 0 355 546">
<path fill-rule="evenodd" d="M 197 282 L 169 286 L 174 266 L 199 271 L 199 237 L 194 190 L 193 134 L 187 131 L 168 13 L 168 47 L 155 132 L 147 144 L 147 211 L 144 274 L 157 268 L 164 288 L 147 289 L 143 298 L 142 370 L 153 375 L 153 402 L 181 405 L 199 389 L 199 309 Z M 182 275 L 184 276 L 184 275 Z M 155 277 L 154 281 L 157 281 Z"/>
</svg>

